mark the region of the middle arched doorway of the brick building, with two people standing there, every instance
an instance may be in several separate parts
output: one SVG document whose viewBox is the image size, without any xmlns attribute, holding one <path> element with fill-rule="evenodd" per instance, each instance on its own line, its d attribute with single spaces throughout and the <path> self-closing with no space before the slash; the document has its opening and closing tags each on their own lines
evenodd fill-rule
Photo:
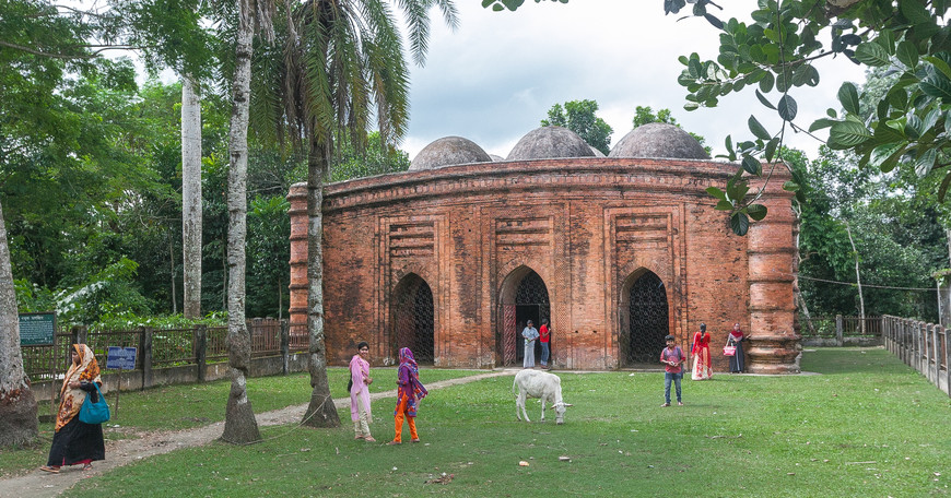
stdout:
<svg viewBox="0 0 951 498">
<path fill-rule="evenodd" d="M 514 270 L 502 284 L 502 303 L 500 310 L 500 330 L 496 334 L 496 356 L 503 366 L 521 365 L 525 358 L 525 341 L 521 330 L 528 320 L 533 327 L 541 327 L 542 319 L 550 319 L 548 286 L 541 275 L 528 266 Z M 550 347 L 554 342 L 550 343 Z M 536 351 L 529 352 L 541 357 L 541 347 L 536 341 Z"/>
</svg>

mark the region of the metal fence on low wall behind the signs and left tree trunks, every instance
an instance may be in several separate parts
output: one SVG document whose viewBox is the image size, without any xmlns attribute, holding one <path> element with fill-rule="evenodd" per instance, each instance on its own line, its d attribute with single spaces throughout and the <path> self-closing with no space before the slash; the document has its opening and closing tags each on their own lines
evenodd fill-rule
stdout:
<svg viewBox="0 0 951 498">
<path fill-rule="evenodd" d="M 247 321 L 251 356 L 279 356 L 307 351 L 308 336 L 290 334 L 286 320 L 253 319 Z M 303 331 L 303 332 L 306 332 Z M 104 375 L 116 370 L 106 368 L 109 346 L 137 347 L 138 370 L 171 366 L 202 366 L 206 363 L 227 359 L 227 327 L 195 325 L 185 329 L 153 329 L 140 327 L 133 330 L 93 331 L 83 327 L 60 329 L 54 336 L 55 344 L 24 345 L 23 368 L 32 382 L 61 378 L 69 368 L 72 344 L 86 344 L 93 349 Z"/>
</svg>

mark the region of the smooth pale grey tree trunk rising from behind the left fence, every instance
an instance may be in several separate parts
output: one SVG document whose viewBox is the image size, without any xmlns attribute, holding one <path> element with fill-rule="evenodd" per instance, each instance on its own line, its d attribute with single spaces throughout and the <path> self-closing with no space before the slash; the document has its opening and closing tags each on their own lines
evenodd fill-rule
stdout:
<svg viewBox="0 0 951 498">
<path fill-rule="evenodd" d="M 185 318 L 201 317 L 201 100 L 181 78 L 181 276 Z"/>
</svg>

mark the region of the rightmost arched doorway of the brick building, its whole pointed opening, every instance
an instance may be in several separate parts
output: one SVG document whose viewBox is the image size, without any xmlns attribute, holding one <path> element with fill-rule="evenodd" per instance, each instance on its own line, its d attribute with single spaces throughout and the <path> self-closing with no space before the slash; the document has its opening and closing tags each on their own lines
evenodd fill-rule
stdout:
<svg viewBox="0 0 951 498">
<path fill-rule="evenodd" d="M 667 288 L 649 270 L 631 274 L 621 289 L 621 363 L 657 367 L 670 333 Z"/>
</svg>

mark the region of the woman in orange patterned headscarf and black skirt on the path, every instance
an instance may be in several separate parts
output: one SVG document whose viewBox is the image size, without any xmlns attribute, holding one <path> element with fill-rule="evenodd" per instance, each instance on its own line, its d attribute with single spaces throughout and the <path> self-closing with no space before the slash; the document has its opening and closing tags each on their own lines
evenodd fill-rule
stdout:
<svg viewBox="0 0 951 498">
<path fill-rule="evenodd" d="M 94 460 L 105 460 L 106 444 L 102 424 L 86 424 L 79 419 L 79 411 L 89 393 L 90 402 L 98 402 L 94 383 L 102 386 L 99 364 L 85 344 L 73 344 L 72 363 L 59 390 L 59 412 L 49 459 L 40 471 L 58 474 L 62 465 L 82 464 L 92 469 Z"/>
</svg>

